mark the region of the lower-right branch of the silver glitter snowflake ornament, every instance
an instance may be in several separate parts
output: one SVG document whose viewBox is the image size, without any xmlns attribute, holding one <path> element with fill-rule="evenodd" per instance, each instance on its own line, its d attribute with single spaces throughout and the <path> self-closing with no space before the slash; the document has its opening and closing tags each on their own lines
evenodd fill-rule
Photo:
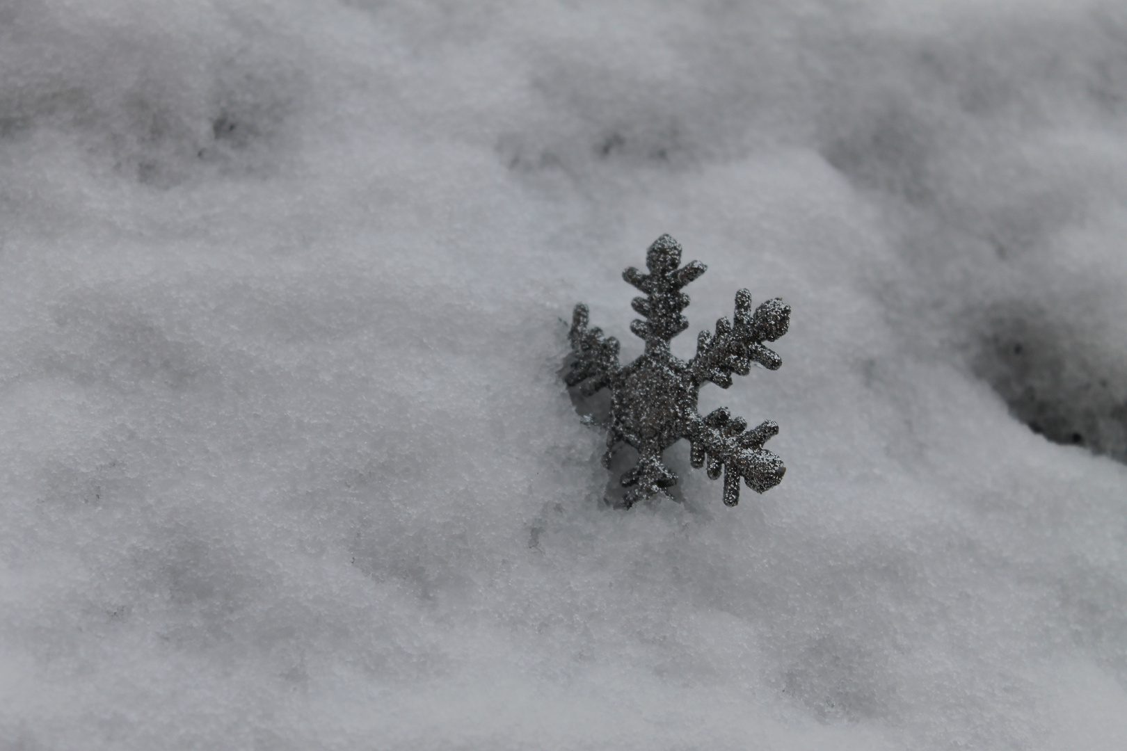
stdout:
<svg viewBox="0 0 1127 751">
<path fill-rule="evenodd" d="M 711 412 L 693 424 L 692 453 L 694 467 L 708 463 L 708 476 L 716 480 L 724 470 L 724 502 L 739 503 L 739 479 L 756 493 L 774 488 L 782 481 L 787 467 L 775 454 L 763 448 L 778 435 L 779 426 L 766 420 L 754 430 L 744 432 L 747 420 L 733 418 L 726 408 Z"/>
</svg>

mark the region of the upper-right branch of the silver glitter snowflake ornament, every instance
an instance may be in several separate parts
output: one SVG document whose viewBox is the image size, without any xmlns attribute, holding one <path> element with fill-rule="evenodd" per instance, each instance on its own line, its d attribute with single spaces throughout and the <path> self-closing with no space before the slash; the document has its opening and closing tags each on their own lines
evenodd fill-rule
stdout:
<svg viewBox="0 0 1127 751">
<path fill-rule="evenodd" d="M 777 370 L 782 358 L 763 346 L 787 333 L 790 305 L 775 297 L 752 314 L 752 293 L 736 293 L 735 325 L 728 319 L 716 322 L 716 336 L 701 331 L 696 338 L 696 357 L 689 361 L 689 372 L 698 384 L 711 381 L 720 388 L 731 385 L 731 374 L 747 375 L 752 363 Z"/>
</svg>

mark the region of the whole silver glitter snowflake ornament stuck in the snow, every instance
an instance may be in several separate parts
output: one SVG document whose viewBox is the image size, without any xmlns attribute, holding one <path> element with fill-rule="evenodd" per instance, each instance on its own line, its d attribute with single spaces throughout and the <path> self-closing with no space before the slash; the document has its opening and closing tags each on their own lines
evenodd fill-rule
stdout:
<svg viewBox="0 0 1127 751">
<path fill-rule="evenodd" d="M 763 448 L 779 432 L 771 420 L 748 430 L 747 421 L 733 418 L 726 408 L 707 417 L 696 412 L 700 387 L 711 381 L 721 388 L 731 385 L 731 374 L 747 375 L 752 363 L 769 370 L 782 365 L 780 357 L 763 346 L 787 333 L 790 305 L 780 298 L 769 299 L 752 312 L 752 295 L 746 289 L 736 293 L 736 312 L 731 321 L 720 319 L 716 333 L 701 331 L 696 339 L 696 356 L 685 363 L 669 352 L 669 340 L 689 328 L 681 311 L 689 305 L 689 295 L 681 292 L 686 284 L 704 274 L 707 267 L 692 261 L 681 268 L 681 244 L 667 234 L 658 238 L 646 253 L 649 274 L 632 266 L 622 278 L 646 293 L 635 297 L 633 309 L 646 318 L 635 321 L 630 331 L 646 341 L 646 354 L 629 365 L 619 365 L 619 341 L 604 338 L 600 329 L 587 328 L 587 306 L 575 306 L 570 341 L 574 350 L 571 369 L 565 381 L 568 386 L 583 384 L 585 395 L 601 388 L 611 391 L 611 417 L 603 466 L 620 444 L 638 449 L 638 464 L 622 475 L 622 484 L 631 490 L 625 495 L 630 508 L 656 494 L 667 494 L 666 488 L 677 482 L 662 462 L 662 452 L 687 438 L 692 444 L 692 465 L 708 465 L 708 476 L 716 480 L 724 471 L 724 502 L 739 502 L 739 479 L 757 493 L 774 488 L 787 467 L 775 454 Z"/>
</svg>

